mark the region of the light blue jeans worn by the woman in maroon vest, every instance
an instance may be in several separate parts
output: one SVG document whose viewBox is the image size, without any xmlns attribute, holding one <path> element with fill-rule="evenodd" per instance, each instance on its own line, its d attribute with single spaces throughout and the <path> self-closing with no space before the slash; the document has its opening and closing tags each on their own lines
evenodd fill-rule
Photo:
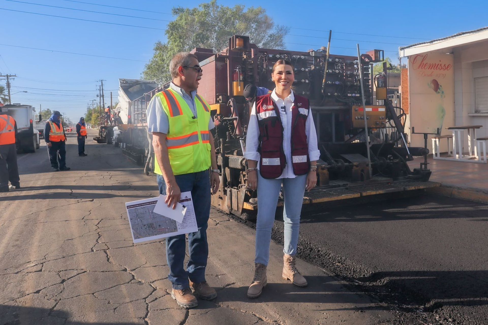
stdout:
<svg viewBox="0 0 488 325">
<path fill-rule="evenodd" d="M 256 221 L 255 263 L 268 264 L 271 229 L 273 228 L 276 206 L 283 183 L 283 221 L 285 225 L 285 247 L 288 255 L 297 253 L 300 213 L 305 193 L 306 175 L 295 178 L 265 179 L 258 171 L 258 219 Z"/>
</svg>

